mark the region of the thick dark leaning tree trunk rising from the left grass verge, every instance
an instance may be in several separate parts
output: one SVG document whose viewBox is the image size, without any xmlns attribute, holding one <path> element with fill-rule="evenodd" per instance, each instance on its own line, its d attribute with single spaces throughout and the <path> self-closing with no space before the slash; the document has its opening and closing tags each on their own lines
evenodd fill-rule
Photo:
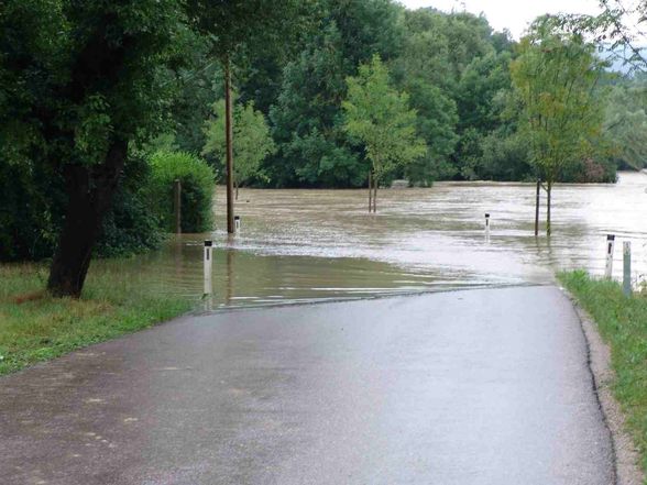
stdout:
<svg viewBox="0 0 647 485">
<path fill-rule="evenodd" d="M 103 214 L 110 207 L 125 163 L 127 150 L 125 142 L 116 142 L 102 164 L 65 167 L 67 212 L 47 283 L 47 289 L 56 297 L 80 296 Z"/>
</svg>

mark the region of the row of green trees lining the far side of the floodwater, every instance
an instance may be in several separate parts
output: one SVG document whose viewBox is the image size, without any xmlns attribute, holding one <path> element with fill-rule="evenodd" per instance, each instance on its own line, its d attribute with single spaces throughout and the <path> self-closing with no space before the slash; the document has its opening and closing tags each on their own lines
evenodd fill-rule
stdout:
<svg viewBox="0 0 647 485">
<path fill-rule="evenodd" d="M 348 187 L 368 179 L 374 210 L 376 187 L 390 177 L 421 185 L 436 178 L 539 178 L 546 180 L 550 232 L 555 181 L 613 181 L 616 166 L 644 166 L 641 84 L 614 78 L 597 45 L 564 29 L 562 19 L 538 19 L 514 43 L 467 13 L 398 13 L 388 1 L 362 7 L 379 14 L 351 18 L 363 20 L 372 41 L 366 46 L 382 54 L 362 62 L 362 45 L 353 37 L 349 51 L 360 62 L 360 81 L 349 76 L 344 82 L 341 19 L 324 9 L 327 31 L 307 38 L 298 58 L 283 67 L 275 99 L 261 100 L 270 123 L 262 112 L 239 120 L 239 180 Z M 346 67 L 354 69 L 352 62 Z M 386 91 L 398 107 L 386 106 Z M 624 95 L 639 102 L 608 102 L 610 91 L 615 101 Z M 216 137 L 208 131 L 202 153 L 218 163 L 226 158 L 213 145 L 224 146 L 222 126 L 213 126 Z M 244 153 L 252 133 L 262 133 L 267 147 L 250 159 Z M 254 144 L 260 146 L 249 146 Z"/>
</svg>

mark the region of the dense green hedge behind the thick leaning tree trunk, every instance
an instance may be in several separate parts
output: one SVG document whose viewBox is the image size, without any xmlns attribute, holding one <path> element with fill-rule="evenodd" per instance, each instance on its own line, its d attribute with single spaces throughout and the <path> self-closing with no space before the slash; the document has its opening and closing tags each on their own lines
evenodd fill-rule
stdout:
<svg viewBox="0 0 647 485">
<path fill-rule="evenodd" d="M 173 180 L 183 185 L 184 232 L 211 229 L 213 172 L 200 158 L 131 154 L 95 249 L 97 256 L 143 252 L 173 230 Z M 45 164 L 0 163 L 0 261 L 52 257 L 65 216 L 65 180 Z M 50 197 L 44 197 L 50 194 Z"/>
</svg>

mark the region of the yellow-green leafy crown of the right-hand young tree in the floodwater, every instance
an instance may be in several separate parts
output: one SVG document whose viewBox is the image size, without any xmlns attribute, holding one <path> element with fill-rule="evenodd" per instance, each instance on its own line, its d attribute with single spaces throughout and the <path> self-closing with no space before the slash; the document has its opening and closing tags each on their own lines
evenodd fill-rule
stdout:
<svg viewBox="0 0 647 485">
<path fill-rule="evenodd" d="M 550 186 L 569 164 L 595 156 L 603 103 L 595 92 L 604 65 L 579 35 L 561 35 L 539 22 L 519 45 L 512 64 L 520 130 L 530 141 L 531 162 Z"/>
</svg>

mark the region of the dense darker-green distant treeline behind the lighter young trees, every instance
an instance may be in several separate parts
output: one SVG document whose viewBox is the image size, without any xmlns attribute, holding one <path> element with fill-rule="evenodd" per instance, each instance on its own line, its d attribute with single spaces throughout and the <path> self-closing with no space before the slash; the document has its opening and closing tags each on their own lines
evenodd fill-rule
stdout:
<svg viewBox="0 0 647 485">
<path fill-rule="evenodd" d="M 274 150 L 245 169 L 257 187 L 360 187 L 369 165 L 364 147 L 343 130 L 346 78 L 379 54 L 395 88 L 409 95 L 427 155 L 394 170 L 416 185 L 438 179 L 529 180 L 537 174 L 529 143 L 518 132 L 511 62 L 518 45 L 494 32 L 484 16 L 434 9 L 408 11 L 391 0 L 319 0 L 318 27 L 288 49 L 246 52 L 234 58 L 238 103 L 265 118 Z M 199 49 L 183 73 L 183 92 L 169 125 L 174 146 L 208 157 L 205 120 L 223 97 L 219 63 Z M 606 115 L 607 150 L 573 161 L 563 181 L 613 181 L 615 170 L 647 163 L 646 82 L 610 75 L 597 96 Z M 168 137 L 165 137 L 165 143 Z M 242 142 L 244 143 L 244 141 Z M 167 146 L 165 146 L 167 147 Z"/>
</svg>

